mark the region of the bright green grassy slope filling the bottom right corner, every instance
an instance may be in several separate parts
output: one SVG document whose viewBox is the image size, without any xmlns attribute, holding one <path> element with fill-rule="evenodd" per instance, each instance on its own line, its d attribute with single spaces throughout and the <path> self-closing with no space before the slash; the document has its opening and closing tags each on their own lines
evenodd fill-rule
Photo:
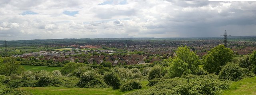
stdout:
<svg viewBox="0 0 256 95">
<path fill-rule="evenodd" d="M 232 83 L 221 95 L 256 95 L 256 77 Z"/>
</svg>

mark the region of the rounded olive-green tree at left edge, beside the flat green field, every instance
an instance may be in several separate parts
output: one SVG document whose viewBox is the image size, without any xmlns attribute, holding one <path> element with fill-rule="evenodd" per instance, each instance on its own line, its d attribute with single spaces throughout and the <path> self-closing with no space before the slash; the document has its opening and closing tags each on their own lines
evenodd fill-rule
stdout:
<svg viewBox="0 0 256 95">
<path fill-rule="evenodd" d="M 0 71 L 0 73 L 10 76 L 13 73 L 21 73 L 25 71 L 25 69 L 20 66 L 20 62 L 16 61 L 14 58 L 5 57 L 2 61 Z"/>
</svg>

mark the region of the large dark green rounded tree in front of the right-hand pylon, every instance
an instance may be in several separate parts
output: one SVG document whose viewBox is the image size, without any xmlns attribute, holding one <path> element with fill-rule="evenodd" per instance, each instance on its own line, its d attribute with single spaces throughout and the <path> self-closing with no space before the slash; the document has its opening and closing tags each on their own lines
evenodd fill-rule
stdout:
<svg viewBox="0 0 256 95">
<path fill-rule="evenodd" d="M 204 56 L 204 69 L 209 73 L 218 73 L 222 66 L 232 61 L 234 55 L 230 48 L 225 48 L 224 45 L 218 45 Z"/>
</svg>

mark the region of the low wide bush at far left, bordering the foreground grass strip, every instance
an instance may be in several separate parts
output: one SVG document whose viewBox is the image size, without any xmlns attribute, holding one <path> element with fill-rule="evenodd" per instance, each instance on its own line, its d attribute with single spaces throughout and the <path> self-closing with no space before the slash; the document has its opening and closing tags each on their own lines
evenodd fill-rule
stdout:
<svg viewBox="0 0 256 95">
<path fill-rule="evenodd" d="M 35 82 L 30 82 L 28 80 L 24 80 L 24 79 L 16 79 L 16 80 L 11 80 L 7 83 L 7 85 L 9 87 L 12 88 L 18 88 L 18 87 L 34 87 L 36 86 Z"/>
</svg>

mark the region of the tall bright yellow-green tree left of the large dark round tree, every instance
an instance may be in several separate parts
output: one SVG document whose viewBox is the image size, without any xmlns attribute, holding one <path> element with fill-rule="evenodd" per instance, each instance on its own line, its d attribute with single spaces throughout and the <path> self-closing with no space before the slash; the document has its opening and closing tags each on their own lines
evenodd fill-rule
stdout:
<svg viewBox="0 0 256 95">
<path fill-rule="evenodd" d="M 191 70 L 192 74 L 196 74 L 198 72 L 198 65 L 200 64 L 199 56 L 196 55 L 194 51 L 190 51 L 187 46 L 178 47 L 176 51 L 176 57 L 181 59 L 183 62 L 188 64 L 188 68 Z"/>
</svg>

